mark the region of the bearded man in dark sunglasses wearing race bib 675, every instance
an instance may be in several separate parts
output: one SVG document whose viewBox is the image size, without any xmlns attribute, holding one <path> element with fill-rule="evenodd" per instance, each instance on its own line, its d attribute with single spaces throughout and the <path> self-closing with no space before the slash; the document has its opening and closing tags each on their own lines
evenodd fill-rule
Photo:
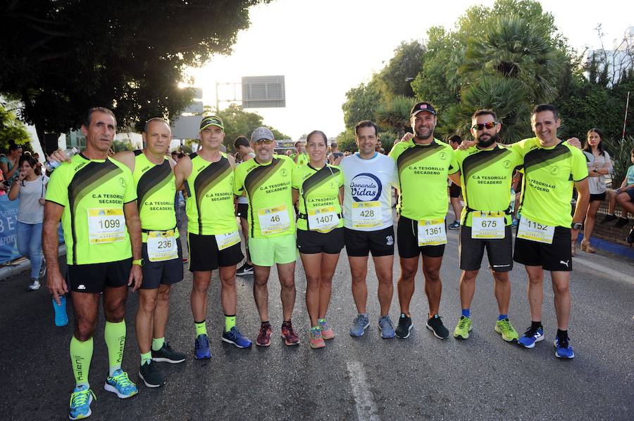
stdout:
<svg viewBox="0 0 634 421">
<path fill-rule="evenodd" d="M 494 280 L 499 316 L 495 332 L 511 342 L 518 333 L 508 318 L 511 299 L 509 271 L 513 268 L 510 189 L 513 172 L 522 164 L 514 149 L 497 145 L 502 124 L 492 110 L 478 110 L 471 117 L 475 145 L 456 150 L 465 207 L 460 216 L 460 303 L 462 315 L 454 337 L 467 339 L 471 331 L 471 300 L 484 250 Z"/>
</svg>

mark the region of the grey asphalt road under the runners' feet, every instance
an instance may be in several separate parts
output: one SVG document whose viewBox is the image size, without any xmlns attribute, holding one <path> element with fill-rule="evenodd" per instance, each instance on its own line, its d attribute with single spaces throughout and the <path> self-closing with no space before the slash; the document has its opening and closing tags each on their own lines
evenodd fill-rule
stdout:
<svg viewBox="0 0 634 421">
<path fill-rule="evenodd" d="M 449 231 L 442 265 L 441 316 L 450 332 L 460 315 L 457 231 Z M 486 267 L 486 266 L 484 266 Z M 348 334 L 356 310 L 350 291 L 345 250 L 333 279 L 328 318 L 337 335 L 324 349 L 309 347 L 304 305 L 306 279 L 297 265 L 294 327 L 302 343 L 285 346 L 279 337 L 280 286 L 272 272 L 269 285 L 273 341 L 262 349 L 237 349 L 220 342 L 223 314 L 214 276 L 209 290 L 208 330 L 212 358 L 194 360 L 194 325 L 189 307 L 192 275 L 175 285 L 167 339 L 185 351 L 187 361 L 161 363 L 165 387 L 148 389 L 137 381 L 139 354 L 134 334 L 137 296 L 128 299 L 128 340 L 123 360 L 139 394 L 128 400 L 106 393 L 108 358 L 101 316 L 90 369 L 92 420 L 633 420 L 634 419 L 634 263 L 608 254 L 578 252 L 573 260 L 571 344 L 576 358 L 554 357 L 557 330 L 552 287 L 545 280 L 543 320 L 546 340 L 534 349 L 507 344 L 493 331 L 497 304 L 490 274 L 478 277 L 466 341 L 441 341 L 425 328 L 428 311 L 422 275 L 412 301 L 414 329 L 409 339 L 381 339 L 376 321 L 377 280 L 368 274 L 371 328 L 361 338 Z M 399 265 L 394 264 L 394 285 Z M 216 275 L 216 274 L 214 274 Z M 530 323 L 526 272 L 511 272 L 510 318 L 523 332 Z M 68 356 L 72 321 L 53 323 L 45 287 L 25 292 L 27 273 L 0 282 L 1 420 L 68 419 L 74 387 Z M 252 277 L 237 279 L 237 325 L 255 341 L 259 318 Z M 398 299 L 390 311 L 396 323 Z M 72 320 L 72 306 L 69 306 Z"/>
</svg>

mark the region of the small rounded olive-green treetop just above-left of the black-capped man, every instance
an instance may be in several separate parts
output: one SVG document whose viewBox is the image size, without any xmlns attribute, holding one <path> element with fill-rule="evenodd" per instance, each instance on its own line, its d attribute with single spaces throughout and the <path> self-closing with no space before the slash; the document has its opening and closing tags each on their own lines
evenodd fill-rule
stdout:
<svg viewBox="0 0 634 421">
<path fill-rule="evenodd" d="M 425 47 L 419 41 L 402 42 L 394 49 L 394 57 L 387 62 L 375 79 L 384 96 L 414 96 L 411 81 L 421 70 Z"/>
</svg>

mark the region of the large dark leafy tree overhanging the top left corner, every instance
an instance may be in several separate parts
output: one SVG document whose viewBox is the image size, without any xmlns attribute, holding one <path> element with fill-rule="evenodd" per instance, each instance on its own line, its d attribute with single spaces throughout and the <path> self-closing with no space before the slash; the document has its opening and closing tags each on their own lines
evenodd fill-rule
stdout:
<svg viewBox="0 0 634 421">
<path fill-rule="evenodd" d="M 40 142 L 79 127 L 95 105 L 137 129 L 149 117 L 175 117 L 193 96 L 178 88 L 185 68 L 229 53 L 260 2 L 3 2 L 0 92 L 20 98 L 20 117 Z"/>
</svg>

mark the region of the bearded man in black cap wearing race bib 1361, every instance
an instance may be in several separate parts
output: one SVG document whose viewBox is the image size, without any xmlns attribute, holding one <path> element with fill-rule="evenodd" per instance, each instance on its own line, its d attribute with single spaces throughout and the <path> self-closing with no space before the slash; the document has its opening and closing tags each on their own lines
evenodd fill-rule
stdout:
<svg viewBox="0 0 634 421">
<path fill-rule="evenodd" d="M 421 102 L 411 109 L 414 138 L 394 145 L 390 157 L 399 173 L 399 224 L 397 241 L 401 276 L 397 284 L 401 316 L 396 335 L 405 339 L 412 328 L 409 303 L 414 295 L 414 277 L 418 256 L 423 254 L 423 275 L 429 313 L 427 328 L 439 339 L 447 339 L 449 331 L 442 324 L 440 309 L 440 266 L 447 244 L 447 177 L 456 174 L 458 164 L 451 146 L 434 138 L 436 110 Z M 458 177 L 454 177 L 456 182 Z M 425 193 L 421 195 L 421 193 Z M 420 228 L 420 229 L 419 229 Z"/>
</svg>

